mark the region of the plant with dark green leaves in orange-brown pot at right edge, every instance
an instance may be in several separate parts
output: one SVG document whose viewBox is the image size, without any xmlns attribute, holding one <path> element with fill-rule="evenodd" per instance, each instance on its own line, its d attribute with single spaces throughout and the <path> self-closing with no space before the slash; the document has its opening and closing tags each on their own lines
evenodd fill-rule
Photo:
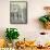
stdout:
<svg viewBox="0 0 50 50">
<path fill-rule="evenodd" d="M 42 22 L 45 28 L 50 29 L 50 15 L 41 16 L 39 21 Z"/>
</svg>

